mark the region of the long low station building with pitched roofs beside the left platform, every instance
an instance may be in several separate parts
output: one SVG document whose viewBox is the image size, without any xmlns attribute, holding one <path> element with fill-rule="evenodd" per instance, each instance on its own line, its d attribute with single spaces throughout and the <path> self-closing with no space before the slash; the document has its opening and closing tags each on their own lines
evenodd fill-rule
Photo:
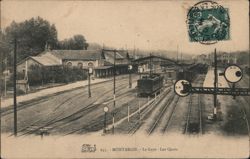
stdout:
<svg viewBox="0 0 250 159">
<path fill-rule="evenodd" d="M 127 51 L 116 53 L 117 74 L 128 72 L 128 64 L 131 58 Z M 25 72 L 26 67 L 78 67 L 88 69 L 89 65 L 94 68 L 95 77 L 108 77 L 113 75 L 114 53 L 102 50 L 48 50 L 38 56 L 29 56 L 17 64 L 18 72 Z M 27 66 L 26 66 L 27 65 Z"/>
</svg>

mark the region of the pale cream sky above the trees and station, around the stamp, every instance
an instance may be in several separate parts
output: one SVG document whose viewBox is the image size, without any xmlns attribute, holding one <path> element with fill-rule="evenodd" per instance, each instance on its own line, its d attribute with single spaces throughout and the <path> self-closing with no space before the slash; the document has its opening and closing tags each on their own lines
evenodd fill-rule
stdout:
<svg viewBox="0 0 250 159">
<path fill-rule="evenodd" d="M 88 42 L 115 48 L 170 50 L 191 54 L 249 50 L 247 0 L 217 1 L 229 9 L 230 40 L 213 45 L 190 42 L 186 18 L 195 0 L 57 1 L 3 0 L 1 27 L 40 16 L 55 24 L 59 40 L 82 34 Z"/>
</svg>

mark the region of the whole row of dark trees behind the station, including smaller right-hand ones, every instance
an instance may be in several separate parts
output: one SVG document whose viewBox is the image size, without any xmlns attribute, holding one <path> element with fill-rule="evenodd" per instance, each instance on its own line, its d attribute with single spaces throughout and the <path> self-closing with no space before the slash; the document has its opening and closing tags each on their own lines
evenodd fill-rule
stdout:
<svg viewBox="0 0 250 159">
<path fill-rule="evenodd" d="M 28 56 L 36 56 L 45 47 L 50 49 L 87 49 L 88 43 L 83 35 L 58 41 L 57 29 L 41 17 L 31 18 L 17 23 L 13 21 L 4 31 L 0 30 L 0 72 L 8 65 L 12 65 L 14 39 L 17 40 L 17 62 Z M 7 59 L 7 60 L 6 60 Z"/>
</svg>

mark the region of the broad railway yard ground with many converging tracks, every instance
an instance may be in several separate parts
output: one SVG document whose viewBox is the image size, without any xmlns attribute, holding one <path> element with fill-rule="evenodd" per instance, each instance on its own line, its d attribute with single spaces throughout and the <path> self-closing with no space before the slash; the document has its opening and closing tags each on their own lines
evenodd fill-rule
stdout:
<svg viewBox="0 0 250 159">
<path fill-rule="evenodd" d="M 213 70 L 198 74 L 192 85 L 212 86 Z M 183 135 L 248 135 L 250 121 L 249 97 L 218 96 L 220 120 L 208 120 L 213 112 L 213 96 L 191 94 L 179 97 L 173 83 L 164 86 L 151 96 L 140 96 L 137 91 L 139 75 L 132 74 L 132 88 L 127 75 L 116 79 L 116 105 L 113 103 L 113 81 L 108 80 L 88 87 L 56 93 L 18 105 L 18 136 L 71 135 L 99 133 L 101 135 L 145 135 L 178 133 Z M 228 87 L 224 77 L 219 86 Z M 245 75 L 236 87 L 248 87 Z M 104 118 L 103 108 L 109 110 Z M 114 118 L 113 118 L 114 117 Z M 114 124 L 114 125 L 113 125 Z M 104 125 L 106 125 L 104 128 Z M 105 130 L 104 130 L 105 129 Z M 12 135 L 13 110 L 2 109 L 2 133 Z"/>
</svg>

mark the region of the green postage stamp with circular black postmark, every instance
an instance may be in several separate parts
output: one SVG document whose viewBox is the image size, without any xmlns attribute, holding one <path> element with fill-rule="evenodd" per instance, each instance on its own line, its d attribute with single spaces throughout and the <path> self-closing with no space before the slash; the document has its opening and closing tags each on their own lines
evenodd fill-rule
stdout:
<svg viewBox="0 0 250 159">
<path fill-rule="evenodd" d="M 188 11 L 188 35 L 191 42 L 214 44 L 229 39 L 228 9 L 217 2 L 201 1 Z"/>
</svg>

